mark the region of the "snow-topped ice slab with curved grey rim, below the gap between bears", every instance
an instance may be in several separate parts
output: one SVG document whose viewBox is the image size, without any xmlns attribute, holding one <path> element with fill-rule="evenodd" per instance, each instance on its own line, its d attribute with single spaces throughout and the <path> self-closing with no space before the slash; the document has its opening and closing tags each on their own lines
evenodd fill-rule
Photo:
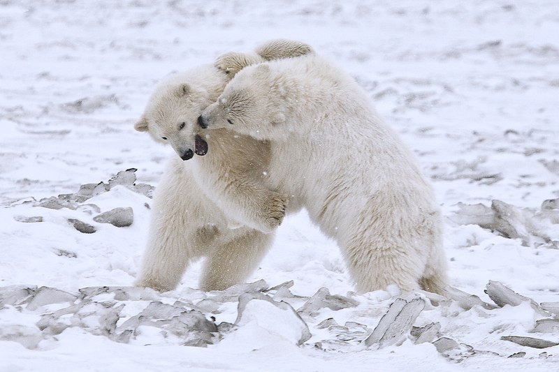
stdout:
<svg viewBox="0 0 559 372">
<path fill-rule="evenodd" d="M 301 345 L 312 336 L 307 323 L 290 304 L 274 301 L 272 297 L 261 292 L 240 295 L 237 312 L 235 325 L 238 327 L 256 320 L 259 327 L 297 345 Z"/>
</svg>

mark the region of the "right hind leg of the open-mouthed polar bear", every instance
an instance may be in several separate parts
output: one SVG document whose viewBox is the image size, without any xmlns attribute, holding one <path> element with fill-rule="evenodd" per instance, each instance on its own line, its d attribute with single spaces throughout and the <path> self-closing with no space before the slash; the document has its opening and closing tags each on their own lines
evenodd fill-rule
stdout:
<svg viewBox="0 0 559 372">
<path fill-rule="evenodd" d="M 215 247 L 212 255 L 208 255 L 200 279 L 202 290 L 225 290 L 231 285 L 243 283 L 274 241 L 273 233 L 263 234 L 246 228 L 239 232 L 233 239 Z"/>
</svg>

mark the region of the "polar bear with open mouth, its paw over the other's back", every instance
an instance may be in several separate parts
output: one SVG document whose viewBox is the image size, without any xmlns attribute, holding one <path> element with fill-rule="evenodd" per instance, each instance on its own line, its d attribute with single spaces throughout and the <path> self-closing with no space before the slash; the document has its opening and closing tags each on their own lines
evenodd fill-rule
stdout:
<svg viewBox="0 0 559 372">
<path fill-rule="evenodd" d="M 236 71 L 234 66 L 310 53 L 304 43 L 272 40 L 253 53 L 228 54 L 228 61 Z M 284 218 L 286 195 L 265 186 L 268 141 L 230 128 L 198 133 L 196 119 L 222 93 L 228 74 L 208 65 L 170 75 L 154 89 L 134 126 L 178 154 L 154 195 L 138 286 L 173 290 L 189 262 L 202 257 L 200 288 L 240 283 L 268 251 Z"/>
</svg>

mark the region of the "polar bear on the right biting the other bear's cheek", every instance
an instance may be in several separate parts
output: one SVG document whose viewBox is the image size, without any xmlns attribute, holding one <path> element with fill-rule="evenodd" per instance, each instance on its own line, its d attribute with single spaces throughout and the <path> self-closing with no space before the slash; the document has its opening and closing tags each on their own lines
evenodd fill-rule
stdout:
<svg viewBox="0 0 559 372">
<path fill-rule="evenodd" d="M 354 79 L 314 54 L 235 70 L 198 123 L 273 142 L 266 182 L 298 195 L 337 241 L 358 291 L 395 283 L 442 293 L 446 260 L 432 188 Z"/>
</svg>

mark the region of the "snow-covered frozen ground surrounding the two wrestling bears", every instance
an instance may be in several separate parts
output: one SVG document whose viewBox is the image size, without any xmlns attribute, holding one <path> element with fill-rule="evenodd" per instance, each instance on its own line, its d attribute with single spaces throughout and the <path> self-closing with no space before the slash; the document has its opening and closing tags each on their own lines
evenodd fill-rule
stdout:
<svg viewBox="0 0 559 372">
<path fill-rule="evenodd" d="M 1 0 L 0 371 L 558 370 L 558 35 L 551 0 Z M 201 292 L 195 266 L 173 292 L 130 288 L 138 185 L 172 155 L 132 128 L 154 83 L 279 37 L 354 75 L 414 149 L 451 285 L 479 299 L 356 295 L 304 213 L 252 284 Z M 130 226 L 94 220 L 117 207 Z"/>
</svg>

